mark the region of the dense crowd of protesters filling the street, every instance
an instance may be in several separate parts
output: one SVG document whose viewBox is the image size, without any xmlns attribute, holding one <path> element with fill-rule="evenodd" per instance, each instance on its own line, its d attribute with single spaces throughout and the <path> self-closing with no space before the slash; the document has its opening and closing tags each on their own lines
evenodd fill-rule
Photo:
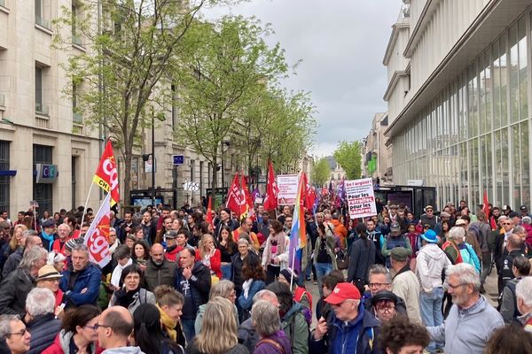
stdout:
<svg viewBox="0 0 532 354">
<path fill-rule="evenodd" d="M 377 202 L 367 219 L 306 211 L 295 270 L 288 205 L 111 212 L 104 267 L 83 244 L 90 209 L 0 212 L 0 352 L 532 352 L 527 206 L 417 219 Z M 497 306 L 482 295 L 492 270 Z"/>
</svg>

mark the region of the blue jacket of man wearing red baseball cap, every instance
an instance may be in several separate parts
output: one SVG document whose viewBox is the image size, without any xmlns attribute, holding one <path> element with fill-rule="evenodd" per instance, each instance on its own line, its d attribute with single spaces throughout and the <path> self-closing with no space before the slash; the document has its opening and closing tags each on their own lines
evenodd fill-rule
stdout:
<svg viewBox="0 0 532 354">
<path fill-rule="evenodd" d="M 313 335 L 309 339 L 310 354 L 380 354 L 382 351 L 376 339 L 380 332 L 380 322 L 371 312 L 358 307 L 356 319 L 345 325 L 331 312 L 327 319 L 327 334 L 319 341 Z"/>
</svg>

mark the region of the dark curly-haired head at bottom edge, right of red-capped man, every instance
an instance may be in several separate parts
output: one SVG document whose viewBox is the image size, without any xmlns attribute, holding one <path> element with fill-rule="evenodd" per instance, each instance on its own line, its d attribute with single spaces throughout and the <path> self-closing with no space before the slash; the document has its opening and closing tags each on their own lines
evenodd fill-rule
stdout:
<svg viewBox="0 0 532 354">
<path fill-rule="evenodd" d="M 397 317 L 382 326 L 379 345 L 387 354 L 423 354 L 428 341 L 424 327 Z"/>
</svg>

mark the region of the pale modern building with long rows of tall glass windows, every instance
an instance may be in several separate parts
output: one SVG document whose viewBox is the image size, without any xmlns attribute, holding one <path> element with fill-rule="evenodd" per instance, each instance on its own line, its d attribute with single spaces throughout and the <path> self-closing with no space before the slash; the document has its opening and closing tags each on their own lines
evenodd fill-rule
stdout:
<svg viewBox="0 0 532 354">
<path fill-rule="evenodd" d="M 532 1 L 403 1 L 384 64 L 396 184 L 530 205 Z"/>
</svg>

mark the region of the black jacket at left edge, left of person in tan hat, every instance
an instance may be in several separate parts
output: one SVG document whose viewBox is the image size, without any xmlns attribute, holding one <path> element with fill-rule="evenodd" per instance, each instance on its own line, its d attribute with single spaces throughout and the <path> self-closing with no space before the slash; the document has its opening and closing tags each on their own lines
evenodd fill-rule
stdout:
<svg viewBox="0 0 532 354">
<path fill-rule="evenodd" d="M 0 286 L 0 313 L 24 314 L 27 294 L 34 287 L 35 279 L 26 269 L 18 268 L 10 273 Z"/>
</svg>

